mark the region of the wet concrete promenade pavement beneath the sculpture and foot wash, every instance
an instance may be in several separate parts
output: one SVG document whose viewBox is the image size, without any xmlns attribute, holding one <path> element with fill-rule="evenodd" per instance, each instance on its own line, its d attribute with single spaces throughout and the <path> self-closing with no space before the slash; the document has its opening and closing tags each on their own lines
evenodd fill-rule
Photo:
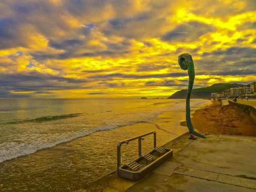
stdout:
<svg viewBox="0 0 256 192">
<path fill-rule="evenodd" d="M 174 149 L 174 156 L 140 181 L 128 181 L 113 173 L 86 191 L 255 191 L 255 137 L 188 137 L 186 133 L 165 144 Z"/>
</svg>

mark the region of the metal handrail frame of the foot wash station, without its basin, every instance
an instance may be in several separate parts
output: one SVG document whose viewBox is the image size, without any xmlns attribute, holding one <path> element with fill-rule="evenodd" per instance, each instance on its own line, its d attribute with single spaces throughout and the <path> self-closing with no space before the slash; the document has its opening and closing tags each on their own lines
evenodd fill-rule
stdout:
<svg viewBox="0 0 256 192">
<path fill-rule="evenodd" d="M 128 145 L 128 143 L 130 141 L 133 141 L 133 140 L 136 140 L 138 139 L 138 155 L 139 157 L 141 156 L 141 140 L 144 140 L 143 137 L 147 136 L 147 135 L 151 135 L 151 134 L 154 134 L 154 148 L 157 147 L 157 132 L 155 131 L 152 131 L 152 132 L 148 132 L 148 133 L 145 133 L 143 135 L 139 135 L 137 137 L 132 137 L 132 138 L 129 138 L 125 141 L 122 141 L 122 142 L 119 142 L 117 144 L 117 174 L 119 174 L 119 167 L 121 166 L 121 145 L 126 143 Z"/>
</svg>

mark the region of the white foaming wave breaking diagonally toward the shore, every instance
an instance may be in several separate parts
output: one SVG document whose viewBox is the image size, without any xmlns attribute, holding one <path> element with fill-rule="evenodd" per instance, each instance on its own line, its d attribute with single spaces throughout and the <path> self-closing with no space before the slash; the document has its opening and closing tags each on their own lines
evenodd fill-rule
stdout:
<svg viewBox="0 0 256 192">
<path fill-rule="evenodd" d="M 69 142 L 71 140 L 90 135 L 94 132 L 116 129 L 118 127 L 134 125 L 139 122 L 147 122 L 150 119 L 156 118 L 157 115 L 161 112 L 159 111 L 148 111 L 148 112 L 137 112 L 132 114 L 134 117 L 132 119 L 130 116 L 126 117 L 127 114 L 120 114 L 116 120 L 109 119 L 106 120 L 105 125 L 92 127 L 92 128 L 83 128 L 76 132 L 65 132 L 65 133 L 28 133 L 23 135 L 12 135 L 12 142 L 0 143 L 0 163 L 10 159 L 14 159 L 20 156 L 29 155 L 35 153 L 38 150 L 45 148 L 54 147 L 60 143 Z M 81 115 L 81 114 L 72 114 L 72 115 Z M 39 118 L 38 118 L 39 119 Z"/>
</svg>

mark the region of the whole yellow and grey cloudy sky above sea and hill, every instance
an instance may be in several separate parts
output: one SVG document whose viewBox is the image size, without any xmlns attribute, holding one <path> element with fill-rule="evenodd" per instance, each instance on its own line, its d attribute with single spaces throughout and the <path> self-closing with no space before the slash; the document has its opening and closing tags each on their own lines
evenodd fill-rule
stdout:
<svg viewBox="0 0 256 192">
<path fill-rule="evenodd" d="M 167 98 L 256 80 L 255 0 L 1 0 L 0 98 Z"/>
</svg>

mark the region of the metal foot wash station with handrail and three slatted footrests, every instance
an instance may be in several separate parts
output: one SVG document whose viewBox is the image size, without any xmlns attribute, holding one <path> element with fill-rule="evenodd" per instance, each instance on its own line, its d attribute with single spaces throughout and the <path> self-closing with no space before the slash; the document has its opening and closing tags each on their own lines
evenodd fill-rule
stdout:
<svg viewBox="0 0 256 192">
<path fill-rule="evenodd" d="M 141 141 L 144 140 L 143 137 L 147 135 L 154 134 L 154 147 L 151 151 L 141 154 Z M 134 160 L 130 160 L 124 165 L 121 166 L 121 145 L 128 143 L 133 140 L 138 140 L 138 155 L 139 157 Z M 117 145 L 117 174 L 120 177 L 130 179 L 130 180 L 139 180 L 150 171 L 157 168 L 162 164 L 166 159 L 173 156 L 173 150 L 168 148 L 162 148 L 157 146 L 157 133 L 155 131 L 149 132 L 137 137 L 127 139 L 125 141 L 119 142 Z"/>
</svg>

